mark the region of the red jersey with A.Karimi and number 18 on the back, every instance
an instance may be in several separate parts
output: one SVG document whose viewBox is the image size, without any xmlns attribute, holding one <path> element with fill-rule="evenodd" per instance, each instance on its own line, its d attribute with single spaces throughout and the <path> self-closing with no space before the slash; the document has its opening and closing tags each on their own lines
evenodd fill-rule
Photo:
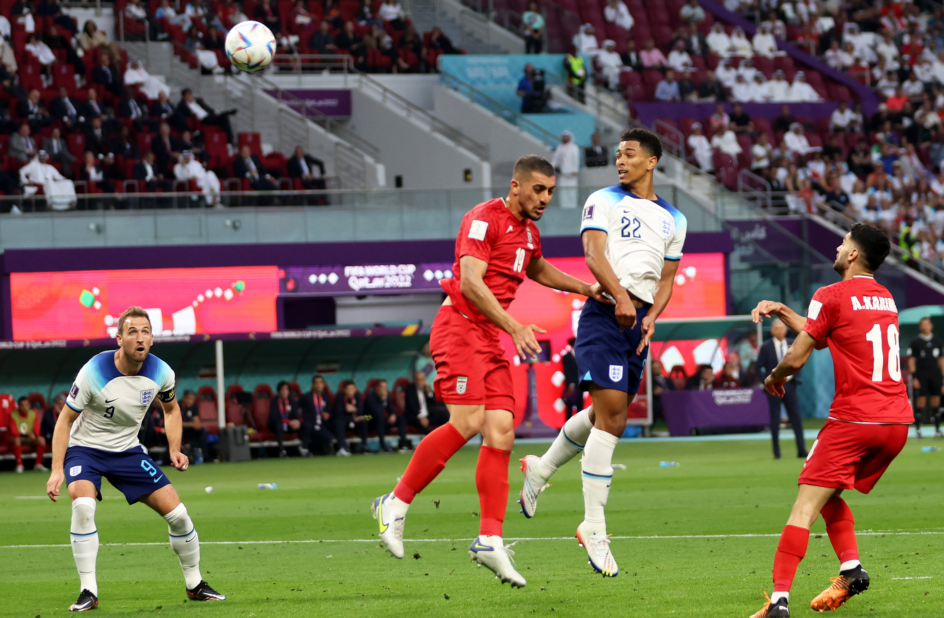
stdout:
<svg viewBox="0 0 944 618">
<path fill-rule="evenodd" d="M 819 288 L 803 330 L 823 337 L 833 355 L 830 416 L 853 423 L 911 423 L 902 381 L 898 307 L 874 277 L 859 275 Z"/>
</svg>

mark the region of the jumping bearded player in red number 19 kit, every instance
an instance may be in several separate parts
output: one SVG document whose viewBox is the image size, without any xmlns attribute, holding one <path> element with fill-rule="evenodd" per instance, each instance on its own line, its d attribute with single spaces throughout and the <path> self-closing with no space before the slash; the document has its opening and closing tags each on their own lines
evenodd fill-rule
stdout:
<svg viewBox="0 0 944 618">
<path fill-rule="evenodd" d="M 379 521 L 380 540 L 395 558 L 403 558 L 403 525 L 413 497 L 481 433 L 476 467 L 480 530 L 469 554 L 502 583 L 522 587 L 525 578 L 510 558 L 514 552 L 501 539 L 514 443 L 514 394 L 498 333 L 504 330 L 512 336 L 521 358 L 541 351 L 534 333 L 545 331 L 519 324 L 506 310 L 526 274 L 548 288 L 608 301 L 598 285 L 562 273 L 541 255 L 541 239 L 532 222 L 541 218 L 553 195 L 553 166 L 529 155 L 515 162 L 513 176 L 506 198 L 489 200 L 465 214 L 456 238 L 455 278 L 441 281 L 448 298 L 432 323 L 430 350 L 436 363 L 436 397 L 446 403 L 449 422 L 419 443 L 396 489 L 379 496 L 371 509 Z"/>
</svg>

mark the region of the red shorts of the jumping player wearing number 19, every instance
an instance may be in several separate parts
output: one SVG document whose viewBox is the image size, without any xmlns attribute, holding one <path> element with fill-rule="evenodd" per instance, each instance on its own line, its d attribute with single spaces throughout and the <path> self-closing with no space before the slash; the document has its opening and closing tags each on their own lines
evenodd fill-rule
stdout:
<svg viewBox="0 0 944 618">
<path fill-rule="evenodd" d="M 436 363 L 437 399 L 514 412 L 512 371 L 497 329 L 480 326 L 445 305 L 432 322 L 430 352 Z"/>
</svg>

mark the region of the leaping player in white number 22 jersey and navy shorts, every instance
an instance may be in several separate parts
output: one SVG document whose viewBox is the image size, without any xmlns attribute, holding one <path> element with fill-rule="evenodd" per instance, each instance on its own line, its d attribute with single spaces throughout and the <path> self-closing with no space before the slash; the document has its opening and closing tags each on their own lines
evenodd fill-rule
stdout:
<svg viewBox="0 0 944 618">
<path fill-rule="evenodd" d="M 626 429 L 626 409 L 639 391 L 655 320 L 666 309 L 682 259 L 684 215 L 657 196 L 652 171 L 662 143 L 651 131 L 624 131 L 616 155 L 619 184 L 594 192 L 583 207 L 581 236 L 590 272 L 615 305 L 588 298 L 575 353 L 593 405 L 565 423 L 543 457 L 521 459 L 521 510 L 531 517 L 537 496 L 566 461 L 583 451 L 584 517 L 577 540 L 603 576 L 619 572 L 606 534 L 604 508 L 613 480 L 613 451 Z"/>
</svg>

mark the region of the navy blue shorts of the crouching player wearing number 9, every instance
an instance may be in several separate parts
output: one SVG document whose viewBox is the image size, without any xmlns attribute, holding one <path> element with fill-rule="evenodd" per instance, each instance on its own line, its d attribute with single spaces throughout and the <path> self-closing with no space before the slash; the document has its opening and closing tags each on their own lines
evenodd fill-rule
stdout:
<svg viewBox="0 0 944 618">
<path fill-rule="evenodd" d="M 118 453 L 88 446 L 70 446 L 65 451 L 63 468 L 66 487 L 74 480 L 90 480 L 99 500 L 102 499 L 102 476 L 125 494 L 128 504 L 171 484 L 141 445 Z"/>
</svg>

